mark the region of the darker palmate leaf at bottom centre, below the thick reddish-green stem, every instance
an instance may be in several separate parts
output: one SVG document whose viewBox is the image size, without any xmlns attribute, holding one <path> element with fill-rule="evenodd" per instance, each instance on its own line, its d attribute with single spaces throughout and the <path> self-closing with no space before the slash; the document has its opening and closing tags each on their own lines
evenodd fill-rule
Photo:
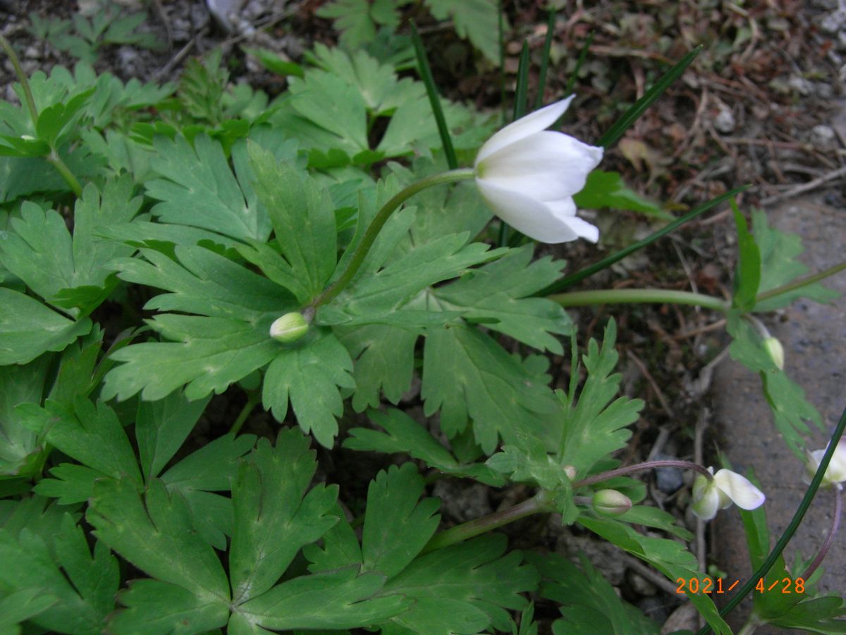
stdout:
<svg viewBox="0 0 846 635">
<path fill-rule="evenodd" d="M 311 572 L 362 565 L 395 572 L 382 596 L 402 594 L 414 600 L 408 610 L 379 626 L 384 633 L 475 633 L 491 625 L 507 628 L 505 609 L 526 605 L 519 594 L 534 589 L 534 569 L 520 565 L 520 555 L 504 555 L 502 536 L 485 536 L 419 555 L 434 533 L 436 502 L 417 502 L 423 479 L 414 467 L 380 472 L 367 493 L 363 541 L 341 520 L 321 546 L 305 549 Z M 416 557 L 415 557 L 416 556 Z"/>
</svg>

